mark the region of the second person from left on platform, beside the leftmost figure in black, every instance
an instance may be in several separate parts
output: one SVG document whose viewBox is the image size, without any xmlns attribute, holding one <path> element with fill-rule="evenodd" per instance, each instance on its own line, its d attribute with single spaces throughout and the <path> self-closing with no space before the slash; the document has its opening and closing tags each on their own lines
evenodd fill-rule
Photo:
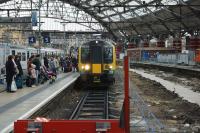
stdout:
<svg viewBox="0 0 200 133">
<path fill-rule="evenodd" d="M 15 78 L 15 82 L 16 82 L 16 85 L 17 85 L 17 88 L 18 89 L 21 89 L 23 88 L 23 70 L 22 70 L 22 66 L 21 66 L 21 63 L 20 63 L 20 57 L 18 55 L 15 56 L 15 63 L 17 65 L 17 75 L 16 75 L 16 78 Z"/>
</svg>

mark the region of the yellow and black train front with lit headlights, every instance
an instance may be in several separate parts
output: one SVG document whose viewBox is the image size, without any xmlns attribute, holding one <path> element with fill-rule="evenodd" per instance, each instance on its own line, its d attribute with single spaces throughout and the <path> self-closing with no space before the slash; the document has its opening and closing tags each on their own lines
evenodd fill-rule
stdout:
<svg viewBox="0 0 200 133">
<path fill-rule="evenodd" d="M 114 83 L 116 69 L 115 46 L 105 41 L 94 40 L 79 47 L 79 72 L 87 83 Z"/>
</svg>

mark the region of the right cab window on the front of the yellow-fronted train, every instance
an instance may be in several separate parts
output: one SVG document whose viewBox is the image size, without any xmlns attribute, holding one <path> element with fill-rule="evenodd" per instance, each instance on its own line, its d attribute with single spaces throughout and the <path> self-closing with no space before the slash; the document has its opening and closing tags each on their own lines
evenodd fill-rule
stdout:
<svg viewBox="0 0 200 133">
<path fill-rule="evenodd" d="M 105 47 L 104 48 L 104 63 L 112 63 L 113 62 L 113 48 Z"/>
</svg>

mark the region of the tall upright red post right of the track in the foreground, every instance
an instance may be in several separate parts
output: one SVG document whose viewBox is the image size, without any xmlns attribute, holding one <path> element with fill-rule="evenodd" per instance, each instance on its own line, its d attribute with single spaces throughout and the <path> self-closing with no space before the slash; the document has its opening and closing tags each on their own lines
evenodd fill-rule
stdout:
<svg viewBox="0 0 200 133">
<path fill-rule="evenodd" d="M 130 133 L 130 103 L 129 103 L 129 61 L 128 56 L 124 57 L 124 118 L 125 131 Z"/>
</svg>

